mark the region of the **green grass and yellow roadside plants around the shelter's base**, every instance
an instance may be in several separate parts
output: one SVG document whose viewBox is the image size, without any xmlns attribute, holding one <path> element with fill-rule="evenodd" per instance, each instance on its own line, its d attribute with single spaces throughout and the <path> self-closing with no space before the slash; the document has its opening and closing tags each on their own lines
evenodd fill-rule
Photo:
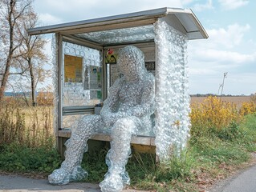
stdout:
<svg viewBox="0 0 256 192">
<path fill-rule="evenodd" d="M 41 95 L 41 96 L 40 96 Z M 39 106 L 8 98 L 0 108 L 0 170 L 46 177 L 62 162 L 55 149 L 52 98 L 39 94 Z M 51 101 L 49 102 L 49 99 Z M 154 154 L 132 153 L 127 170 L 131 187 L 155 191 L 203 191 L 250 164 L 256 152 L 256 97 L 242 103 L 209 97 L 191 106 L 191 138 L 186 151 L 166 165 Z M 107 172 L 108 147 L 84 155 L 85 182 L 100 182 Z"/>
</svg>

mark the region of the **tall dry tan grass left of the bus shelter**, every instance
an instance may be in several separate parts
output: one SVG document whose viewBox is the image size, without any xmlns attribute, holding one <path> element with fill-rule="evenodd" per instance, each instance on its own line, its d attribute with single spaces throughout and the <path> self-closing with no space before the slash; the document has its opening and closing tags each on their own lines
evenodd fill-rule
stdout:
<svg viewBox="0 0 256 192">
<path fill-rule="evenodd" d="M 52 106 L 2 104 L 0 144 L 18 142 L 29 147 L 52 147 L 55 143 L 52 116 Z"/>
</svg>

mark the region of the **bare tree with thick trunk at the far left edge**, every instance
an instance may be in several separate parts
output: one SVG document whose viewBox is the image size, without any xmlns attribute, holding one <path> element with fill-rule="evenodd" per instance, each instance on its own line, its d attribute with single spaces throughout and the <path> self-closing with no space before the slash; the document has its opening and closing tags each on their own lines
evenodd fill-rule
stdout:
<svg viewBox="0 0 256 192">
<path fill-rule="evenodd" d="M 24 17 L 31 10 L 31 3 L 32 0 L 0 0 L 0 46 L 2 46 L 3 54 L 0 102 L 2 102 L 6 90 L 6 84 L 11 74 L 10 67 L 14 64 L 14 59 L 26 54 L 22 49 L 22 38 L 18 31 L 22 27 Z M 19 72 L 19 74 L 22 73 L 23 71 Z"/>
</svg>

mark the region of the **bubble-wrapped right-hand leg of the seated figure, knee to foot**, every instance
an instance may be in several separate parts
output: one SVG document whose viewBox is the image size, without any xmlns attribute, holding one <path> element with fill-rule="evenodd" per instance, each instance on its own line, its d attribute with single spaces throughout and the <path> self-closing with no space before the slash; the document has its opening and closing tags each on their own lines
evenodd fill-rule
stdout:
<svg viewBox="0 0 256 192">
<path fill-rule="evenodd" d="M 108 173 L 105 174 L 104 181 L 100 182 L 103 192 L 120 191 L 124 184 L 129 184 L 130 178 L 125 171 L 125 165 L 131 154 L 132 134 L 136 134 L 139 126 L 140 120 L 136 117 L 120 118 L 113 126 L 111 149 L 106 157 Z"/>
</svg>

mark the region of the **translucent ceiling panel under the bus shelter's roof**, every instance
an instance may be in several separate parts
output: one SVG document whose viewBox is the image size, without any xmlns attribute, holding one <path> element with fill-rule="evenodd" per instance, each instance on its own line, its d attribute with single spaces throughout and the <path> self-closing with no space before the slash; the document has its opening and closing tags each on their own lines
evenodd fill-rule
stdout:
<svg viewBox="0 0 256 192">
<path fill-rule="evenodd" d="M 155 38 L 154 28 L 150 26 L 137 26 L 117 30 L 96 31 L 85 34 L 75 34 L 79 38 L 84 38 L 101 45 L 122 44 L 128 42 L 148 42 Z"/>
</svg>

